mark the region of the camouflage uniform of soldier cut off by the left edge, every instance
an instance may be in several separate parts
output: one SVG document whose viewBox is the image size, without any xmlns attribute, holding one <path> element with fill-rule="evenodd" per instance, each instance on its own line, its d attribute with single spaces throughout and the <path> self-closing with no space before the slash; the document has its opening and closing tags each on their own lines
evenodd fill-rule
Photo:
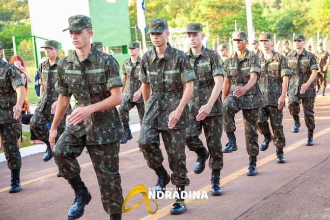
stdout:
<svg viewBox="0 0 330 220">
<path fill-rule="evenodd" d="M 0 138 L 8 168 L 11 170 L 20 169 L 22 166 L 20 149 L 17 146 L 22 124 L 21 118 L 14 119 L 13 112 L 17 101 L 15 89 L 20 85 L 25 86 L 18 69 L 0 60 Z"/>
</svg>

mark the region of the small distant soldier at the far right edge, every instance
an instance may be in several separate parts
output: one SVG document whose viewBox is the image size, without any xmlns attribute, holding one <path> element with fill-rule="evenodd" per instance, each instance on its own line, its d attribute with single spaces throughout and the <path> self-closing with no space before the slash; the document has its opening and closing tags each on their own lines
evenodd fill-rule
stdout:
<svg viewBox="0 0 330 220">
<path fill-rule="evenodd" d="M 319 63 L 319 69 L 317 71 L 318 78 L 321 81 L 322 85 L 322 95 L 325 96 L 326 88 L 327 88 L 327 73 L 328 73 L 328 66 L 330 62 L 330 54 L 328 51 L 323 50 L 323 42 L 319 40 L 317 43 L 317 51 L 315 53 L 317 56 L 317 62 Z M 320 90 L 320 81 L 316 81 L 317 90 L 316 93 Z"/>
</svg>

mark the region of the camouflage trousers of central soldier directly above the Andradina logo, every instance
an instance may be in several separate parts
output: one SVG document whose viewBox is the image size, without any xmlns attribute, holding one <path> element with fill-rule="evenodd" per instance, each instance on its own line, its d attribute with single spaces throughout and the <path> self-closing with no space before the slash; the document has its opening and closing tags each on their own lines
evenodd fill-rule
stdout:
<svg viewBox="0 0 330 220">
<path fill-rule="evenodd" d="M 155 170 L 163 164 L 159 134 L 162 134 L 169 168 L 172 170 L 172 184 L 188 186 L 190 181 L 186 167 L 185 129 L 158 130 L 151 125 L 142 124 L 138 143 L 147 165 Z"/>
</svg>

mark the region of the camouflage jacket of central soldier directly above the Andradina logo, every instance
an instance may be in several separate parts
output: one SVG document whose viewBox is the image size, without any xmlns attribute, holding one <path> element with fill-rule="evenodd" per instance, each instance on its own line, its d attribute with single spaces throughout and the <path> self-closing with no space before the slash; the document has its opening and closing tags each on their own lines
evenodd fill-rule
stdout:
<svg viewBox="0 0 330 220">
<path fill-rule="evenodd" d="M 180 104 L 184 84 L 196 79 L 187 56 L 167 43 L 165 55 L 160 59 L 154 47 L 142 57 L 139 79 L 142 83 L 150 83 L 152 89 L 142 123 L 157 126 L 159 130 L 169 130 L 168 117 Z M 173 129 L 186 128 L 188 116 L 186 106 Z"/>
</svg>

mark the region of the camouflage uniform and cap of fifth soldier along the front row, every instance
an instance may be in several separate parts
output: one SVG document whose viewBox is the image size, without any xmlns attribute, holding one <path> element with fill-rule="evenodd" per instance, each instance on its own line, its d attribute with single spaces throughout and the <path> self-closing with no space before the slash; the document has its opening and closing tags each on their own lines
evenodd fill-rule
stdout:
<svg viewBox="0 0 330 220">
<path fill-rule="evenodd" d="M 270 33 L 269 33 L 270 34 Z M 273 39 L 273 36 L 261 34 L 259 40 Z M 271 126 L 274 133 L 274 145 L 277 149 L 285 146 L 285 136 L 283 133 L 283 109 L 278 109 L 278 98 L 282 94 L 282 78 L 290 76 L 286 59 L 283 55 L 273 51 L 273 55 L 269 59 L 264 58 L 264 54 L 260 56 L 261 73 L 258 80 L 261 92 L 264 96 L 264 107 L 259 111 L 259 120 L 257 128 L 260 134 L 266 136 L 271 133 L 268 124 L 270 118 Z"/>
</svg>

